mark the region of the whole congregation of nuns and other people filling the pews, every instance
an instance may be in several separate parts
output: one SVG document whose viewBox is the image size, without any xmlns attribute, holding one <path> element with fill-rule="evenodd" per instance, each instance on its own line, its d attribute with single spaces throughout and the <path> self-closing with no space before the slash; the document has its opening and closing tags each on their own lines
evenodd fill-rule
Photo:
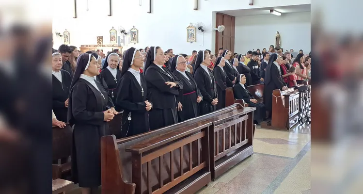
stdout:
<svg viewBox="0 0 363 194">
<path fill-rule="evenodd" d="M 160 129 L 225 107 L 226 89 L 255 107 L 254 123 L 271 117 L 272 91 L 309 81 L 311 55 L 282 49 L 245 54 L 219 49 L 191 55 L 160 47 L 81 53 L 53 49 L 53 126 L 73 127 L 72 176 L 82 193 L 101 185 L 100 139 L 108 122 L 122 113 L 122 137 Z M 264 84 L 263 101 L 248 87 Z M 90 143 L 92 142 L 92 143 Z"/>
</svg>

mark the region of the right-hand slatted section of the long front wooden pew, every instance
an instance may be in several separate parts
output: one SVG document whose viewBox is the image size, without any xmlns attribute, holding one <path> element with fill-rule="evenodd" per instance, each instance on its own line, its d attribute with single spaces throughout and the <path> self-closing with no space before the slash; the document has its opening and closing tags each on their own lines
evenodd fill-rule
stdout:
<svg viewBox="0 0 363 194">
<path fill-rule="evenodd" d="M 253 125 L 254 110 L 256 108 L 240 105 L 237 110 L 214 119 L 209 128 L 210 171 L 213 181 L 253 154 L 253 133 L 256 128 Z"/>
</svg>

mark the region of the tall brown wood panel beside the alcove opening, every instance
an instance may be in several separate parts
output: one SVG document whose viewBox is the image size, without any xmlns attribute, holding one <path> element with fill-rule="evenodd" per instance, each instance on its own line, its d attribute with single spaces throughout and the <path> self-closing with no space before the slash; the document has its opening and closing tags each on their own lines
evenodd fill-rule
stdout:
<svg viewBox="0 0 363 194">
<path fill-rule="evenodd" d="M 222 13 L 216 14 L 216 27 L 224 25 L 225 29 L 223 32 L 216 31 L 216 51 L 219 48 L 231 50 L 235 52 L 235 28 L 236 28 L 236 17 Z"/>
</svg>

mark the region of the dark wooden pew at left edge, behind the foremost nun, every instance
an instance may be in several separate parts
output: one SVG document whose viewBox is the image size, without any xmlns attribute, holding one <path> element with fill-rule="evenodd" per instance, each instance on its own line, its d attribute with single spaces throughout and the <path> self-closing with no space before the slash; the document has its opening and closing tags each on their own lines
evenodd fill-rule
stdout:
<svg viewBox="0 0 363 194">
<path fill-rule="evenodd" d="M 71 162 L 68 160 L 72 151 L 73 129 L 67 124 L 64 128 L 52 128 L 52 158 L 57 163 L 52 164 L 52 178 L 65 178 L 70 174 Z M 58 163 L 61 159 L 61 163 Z"/>
</svg>

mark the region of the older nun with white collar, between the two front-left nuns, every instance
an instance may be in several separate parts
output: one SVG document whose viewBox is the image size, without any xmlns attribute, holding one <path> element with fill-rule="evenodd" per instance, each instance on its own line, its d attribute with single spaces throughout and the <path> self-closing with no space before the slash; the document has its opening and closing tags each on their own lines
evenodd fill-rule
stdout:
<svg viewBox="0 0 363 194">
<path fill-rule="evenodd" d="M 121 71 L 118 68 L 120 65 L 120 56 L 116 52 L 111 52 L 107 55 L 105 64 L 103 64 L 100 77 L 106 82 L 112 102 L 116 101 L 116 86 L 121 79 Z"/>
</svg>

